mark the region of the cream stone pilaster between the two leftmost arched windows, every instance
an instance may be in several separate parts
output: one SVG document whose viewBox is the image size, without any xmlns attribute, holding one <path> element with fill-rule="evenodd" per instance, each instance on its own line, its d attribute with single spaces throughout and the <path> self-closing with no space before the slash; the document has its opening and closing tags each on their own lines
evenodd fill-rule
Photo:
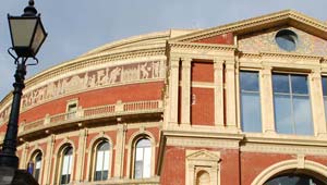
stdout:
<svg viewBox="0 0 327 185">
<path fill-rule="evenodd" d="M 50 176 L 51 176 L 51 160 L 53 157 L 53 148 L 55 148 L 55 135 L 50 135 L 47 138 L 47 151 L 45 158 L 45 169 L 44 169 L 44 178 L 41 184 L 49 185 L 50 184 Z M 55 173 L 52 174 L 52 178 L 55 178 Z"/>
</svg>

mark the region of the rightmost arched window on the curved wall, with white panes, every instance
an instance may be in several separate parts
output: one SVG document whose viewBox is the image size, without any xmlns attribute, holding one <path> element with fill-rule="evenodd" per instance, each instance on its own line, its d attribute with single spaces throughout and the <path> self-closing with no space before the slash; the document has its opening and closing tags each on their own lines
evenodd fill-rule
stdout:
<svg viewBox="0 0 327 185">
<path fill-rule="evenodd" d="M 134 159 L 134 177 L 150 177 L 152 143 L 148 138 L 142 138 L 136 143 Z"/>
</svg>

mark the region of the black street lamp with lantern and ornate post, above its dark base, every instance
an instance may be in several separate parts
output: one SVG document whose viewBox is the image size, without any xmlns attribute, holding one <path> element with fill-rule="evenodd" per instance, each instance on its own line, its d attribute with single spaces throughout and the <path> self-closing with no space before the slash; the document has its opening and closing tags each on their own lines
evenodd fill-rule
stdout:
<svg viewBox="0 0 327 185">
<path fill-rule="evenodd" d="M 17 123 L 20 116 L 21 97 L 25 87 L 24 79 L 27 65 L 36 65 L 38 60 L 36 53 L 47 37 L 43 26 L 40 14 L 37 14 L 34 8 L 34 1 L 29 0 L 28 5 L 24 9 L 22 16 L 8 15 L 12 47 L 8 52 L 15 60 L 16 72 L 14 74 L 15 83 L 13 84 L 13 100 L 8 123 L 5 137 L 0 151 L 0 168 L 19 168 L 19 158 L 16 157 L 17 145 Z M 16 55 L 12 53 L 15 51 Z M 27 63 L 27 59 L 34 59 L 35 62 Z M 1 175 L 1 170 L 0 170 Z M 1 176 L 0 176 L 1 177 Z M 1 178 L 0 178 L 1 183 Z"/>
</svg>

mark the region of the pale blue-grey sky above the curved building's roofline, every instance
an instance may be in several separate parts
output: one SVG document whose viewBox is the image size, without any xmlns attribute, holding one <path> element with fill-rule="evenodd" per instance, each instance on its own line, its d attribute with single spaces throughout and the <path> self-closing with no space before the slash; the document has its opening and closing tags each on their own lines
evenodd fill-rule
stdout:
<svg viewBox="0 0 327 185">
<path fill-rule="evenodd" d="M 1 0 L 0 99 L 12 90 L 15 65 L 7 14 L 21 15 L 28 0 Z M 31 77 L 96 47 L 125 37 L 169 28 L 209 28 L 292 9 L 327 21 L 326 0 L 35 0 L 48 32 Z"/>
</svg>

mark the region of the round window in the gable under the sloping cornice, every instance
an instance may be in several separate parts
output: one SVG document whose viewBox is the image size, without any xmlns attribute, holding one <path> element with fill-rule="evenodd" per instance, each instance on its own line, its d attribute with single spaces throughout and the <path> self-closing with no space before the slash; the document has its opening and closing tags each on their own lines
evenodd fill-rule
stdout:
<svg viewBox="0 0 327 185">
<path fill-rule="evenodd" d="M 290 29 L 279 30 L 275 39 L 278 47 L 282 50 L 294 51 L 296 49 L 298 35 Z"/>
</svg>

